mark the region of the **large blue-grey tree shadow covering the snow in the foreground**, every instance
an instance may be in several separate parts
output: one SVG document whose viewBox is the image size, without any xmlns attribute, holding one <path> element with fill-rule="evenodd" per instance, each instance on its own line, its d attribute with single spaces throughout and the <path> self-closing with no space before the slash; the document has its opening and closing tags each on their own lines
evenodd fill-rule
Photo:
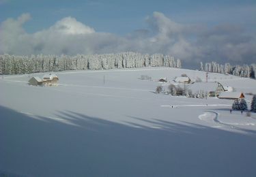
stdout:
<svg viewBox="0 0 256 177">
<path fill-rule="evenodd" d="M 68 110 L 54 119 L 0 106 L 0 116 L 4 175 L 256 175 L 255 132 L 244 135 L 157 118 L 132 117 L 136 123 L 121 124 Z"/>
</svg>

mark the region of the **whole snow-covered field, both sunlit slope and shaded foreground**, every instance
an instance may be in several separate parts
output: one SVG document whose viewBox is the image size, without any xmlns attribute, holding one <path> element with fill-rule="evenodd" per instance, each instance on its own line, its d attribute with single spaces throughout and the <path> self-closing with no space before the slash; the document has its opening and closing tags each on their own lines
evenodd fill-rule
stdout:
<svg viewBox="0 0 256 177">
<path fill-rule="evenodd" d="M 0 79 L 0 176 L 256 176 L 256 114 L 233 101 L 155 94 L 152 80 L 205 73 L 167 67 L 62 71 Z M 209 74 L 256 93 L 256 80 Z M 246 95 L 248 107 L 251 96 Z M 173 107 L 173 108 L 172 108 Z"/>
</svg>

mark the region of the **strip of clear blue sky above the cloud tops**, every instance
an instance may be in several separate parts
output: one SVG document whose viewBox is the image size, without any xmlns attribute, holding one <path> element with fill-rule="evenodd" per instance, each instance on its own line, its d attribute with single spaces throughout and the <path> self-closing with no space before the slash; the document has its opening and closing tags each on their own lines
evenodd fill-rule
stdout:
<svg viewBox="0 0 256 177">
<path fill-rule="evenodd" d="M 255 29 L 256 1 L 51 1 L 51 0 L 0 0 L 0 21 L 16 18 L 23 13 L 32 18 L 25 29 L 35 32 L 53 25 L 57 20 L 72 16 L 96 31 L 124 34 L 145 28 L 145 17 L 162 12 L 177 22 L 238 23 Z M 247 28 L 247 27 L 246 27 Z"/>
</svg>

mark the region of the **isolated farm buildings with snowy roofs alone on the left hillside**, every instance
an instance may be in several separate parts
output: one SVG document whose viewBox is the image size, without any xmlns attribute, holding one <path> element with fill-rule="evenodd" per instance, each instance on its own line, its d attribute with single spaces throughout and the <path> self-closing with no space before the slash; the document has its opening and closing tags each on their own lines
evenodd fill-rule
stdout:
<svg viewBox="0 0 256 177">
<path fill-rule="evenodd" d="M 57 86 L 59 84 L 59 78 L 56 74 L 46 74 L 43 78 L 32 77 L 29 80 L 29 84 L 33 86 Z"/>
</svg>

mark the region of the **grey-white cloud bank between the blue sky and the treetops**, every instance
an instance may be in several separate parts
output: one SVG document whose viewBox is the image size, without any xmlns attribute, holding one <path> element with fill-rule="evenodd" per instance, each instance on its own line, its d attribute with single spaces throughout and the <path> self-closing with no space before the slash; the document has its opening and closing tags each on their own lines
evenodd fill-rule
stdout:
<svg viewBox="0 0 256 177">
<path fill-rule="evenodd" d="M 147 29 L 125 36 L 99 33 L 75 18 L 66 17 L 52 27 L 27 33 L 23 28 L 31 16 L 1 22 L 0 54 L 102 54 L 112 52 L 162 53 L 182 59 L 185 65 L 199 61 L 253 63 L 256 37 L 238 25 L 208 28 L 181 24 L 160 12 L 147 16 Z"/>
</svg>

